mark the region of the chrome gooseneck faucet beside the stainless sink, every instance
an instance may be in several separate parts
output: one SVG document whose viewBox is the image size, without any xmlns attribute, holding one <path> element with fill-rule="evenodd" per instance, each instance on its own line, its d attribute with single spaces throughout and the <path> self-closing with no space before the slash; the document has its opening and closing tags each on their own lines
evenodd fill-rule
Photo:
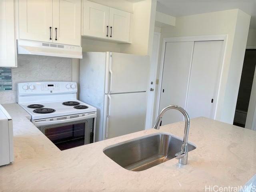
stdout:
<svg viewBox="0 0 256 192">
<path fill-rule="evenodd" d="M 160 129 L 160 124 L 162 122 L 162 117 L 163 117 L 164 113 L 166 111 L 168 111 L 169 109 L 176 109 L 176 110 L 180 111 L 185 117 L 186 122 L 185 122 L 183 144 L 181 146 L 180 152 L 176 153 L 175 156 L 176 156 L 176 159 L 179 160 L 180 164 L 186 165 L 188 163 L 188 131 L 189 131 L 189 123 L 190 123 L 188 113 L 180 106 L 169 105 L 160 112 L 156 122 L 153 125 L 153 128 L 154 129 Z"/>
</svg>

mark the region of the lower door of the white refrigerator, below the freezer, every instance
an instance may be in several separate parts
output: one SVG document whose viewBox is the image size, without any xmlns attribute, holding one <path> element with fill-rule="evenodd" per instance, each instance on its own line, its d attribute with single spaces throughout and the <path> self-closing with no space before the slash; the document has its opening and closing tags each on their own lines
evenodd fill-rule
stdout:
<svg viewBox="0 0 256 192">
<path fill-rule="evenodd" d="M 106 95 L 105 138 L 145 129 L 146 92 Z"/>
</svg>

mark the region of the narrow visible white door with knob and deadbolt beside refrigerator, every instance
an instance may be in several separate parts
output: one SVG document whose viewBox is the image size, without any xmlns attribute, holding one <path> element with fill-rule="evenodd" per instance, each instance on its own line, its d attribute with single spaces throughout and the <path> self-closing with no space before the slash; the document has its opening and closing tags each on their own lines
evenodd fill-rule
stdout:
<svg viewBox="0 0 256 192">
<path fill-rule="evenodd" d="M 147 104 L 147 117 L 146 117 L 146 129 L 152 128 L 154 118 L 154 103 L 156 93 L 156 72 L 158 65 L 158 55 L 160 46 L 160 33 L 154 32 L 152 56 L 150 58 L 150 76 L 149 82 L 150 87 L 148 90 L 148 104 Z"/>
</svg>

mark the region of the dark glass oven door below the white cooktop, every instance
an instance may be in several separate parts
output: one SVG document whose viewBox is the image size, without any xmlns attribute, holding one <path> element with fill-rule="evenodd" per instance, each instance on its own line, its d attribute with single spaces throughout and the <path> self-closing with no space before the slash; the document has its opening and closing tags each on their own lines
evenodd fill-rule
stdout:
<svg viewBox="0 0 256 192">
<path fill-rule="evenodd" d="M 81 121 L 40 126 L 38 129 L 60 150 L 93 142 L 94 118 Z"/>
</svg>

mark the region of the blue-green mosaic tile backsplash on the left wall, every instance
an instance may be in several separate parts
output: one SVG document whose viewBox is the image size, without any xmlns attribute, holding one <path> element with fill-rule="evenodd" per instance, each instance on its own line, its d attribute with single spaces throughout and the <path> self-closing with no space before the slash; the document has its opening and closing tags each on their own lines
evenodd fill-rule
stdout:
<svg viewBox="0 0 256 192">
<path fill-rule="evenodd" d="M 12 68 L 0 67 L 0 91 L 12 90 Z"/>
</svg>

